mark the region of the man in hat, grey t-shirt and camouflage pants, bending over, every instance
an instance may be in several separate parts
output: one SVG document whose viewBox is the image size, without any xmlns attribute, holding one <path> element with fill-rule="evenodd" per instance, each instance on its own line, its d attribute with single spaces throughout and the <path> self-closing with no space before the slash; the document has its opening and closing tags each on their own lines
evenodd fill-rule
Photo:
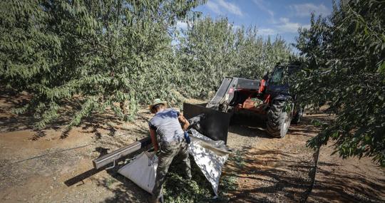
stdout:
<svg viewBox="0 0 385 203">
<path fill-rule="evenodd" d="M 190 160 L 188 158 L 188 144 L 184 137 L 190 123 L 177 110 L 167 108 L 167 103 L 160 99 L 155 99 L 149 106 L 151 113 L 155 113 L 149 124 L 151 142 L 155 152 L 160 150 L 158 155 L 158 168 L 156 170 L 155 186 L 153 197 L 150 202 L 159 202 L 162 197 L 162 187 L 165 176 L 171 162 L 175 156 L 180 157 L 183 163 L 185 178 L 191 179 Z M 158 146 L 157 136 L 160 137 Z"/>
</svg>

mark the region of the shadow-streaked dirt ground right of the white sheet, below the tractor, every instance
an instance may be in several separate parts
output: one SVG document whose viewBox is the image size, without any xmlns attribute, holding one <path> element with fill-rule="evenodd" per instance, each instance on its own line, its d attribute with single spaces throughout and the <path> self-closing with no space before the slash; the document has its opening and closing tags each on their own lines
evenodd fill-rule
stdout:
<svg viewBox="0 0 385 203">
<path fill-rule="evenodd" d="M 243 149 L 245 164 L 235 167 L 239 187 L 232 192 L 230 202 L 385 202 L 384 170 L 367 158 L 343 160 L 331 155 L 332 144 L 321 147 L 314 188 L 309 194 L 314 151 L 305 145 L 318 132 L 308 124 L 312 119 L 329 117 L 305 115 L 283 139 L 255 132 L 260 139 Z M 246 136 L 254 137 L 252 132 Z"/>
</svg>

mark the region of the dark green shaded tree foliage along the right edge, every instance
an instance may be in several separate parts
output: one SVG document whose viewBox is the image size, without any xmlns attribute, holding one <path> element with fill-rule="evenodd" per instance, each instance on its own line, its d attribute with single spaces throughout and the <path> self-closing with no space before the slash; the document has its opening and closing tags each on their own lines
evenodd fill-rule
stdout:
<svg viewBox="0 0 385 203">
<path fill-rule="evenodd" d="M 304 67 L 295 91 L 302 103 L 327 102 L 336 119 L 309 141 L 335 140 L 342 157 L 369 156 L 385 166 L 385 3 L 341 1 L 299 31 Z"/>
</svg>

